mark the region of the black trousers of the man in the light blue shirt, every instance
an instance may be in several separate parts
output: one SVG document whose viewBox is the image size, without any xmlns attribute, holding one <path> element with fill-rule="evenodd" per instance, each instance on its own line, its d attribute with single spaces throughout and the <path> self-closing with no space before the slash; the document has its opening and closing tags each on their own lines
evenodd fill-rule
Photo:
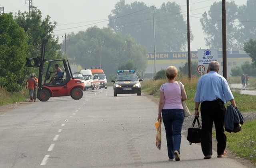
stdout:
<svg viewBox="0 0 256 168">
<path fill-rule="evenodd" d="M 220 99 L 204 101 L 201 104 L 202 117 L 202 152 L 204 156 L 212 155 L 212 125 L 214 122 L 217 139 L 217 153 L 223 154 L 227 138 L 224 134 L 224 115 L 226 108 Z"/>
</svg>

